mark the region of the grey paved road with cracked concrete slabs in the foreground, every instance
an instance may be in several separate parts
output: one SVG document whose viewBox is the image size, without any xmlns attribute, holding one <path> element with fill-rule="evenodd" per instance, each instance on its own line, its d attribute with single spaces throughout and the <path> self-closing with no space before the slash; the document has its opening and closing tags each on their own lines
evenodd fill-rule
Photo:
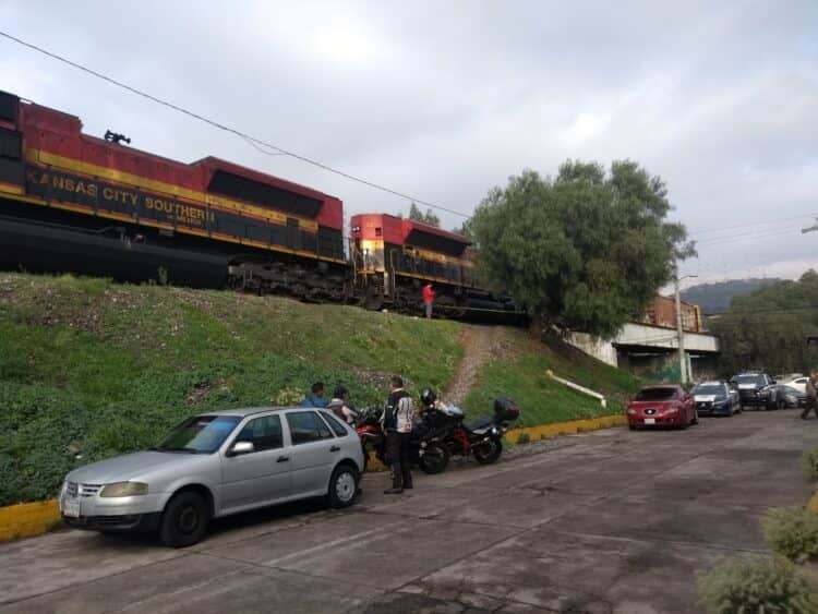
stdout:
<svg viewBox="0 0 818 614">
<path fill-rule="evenodd" d="M 9 612 L 696 612 L 695 574 L 763 551 L 757 518 L 803 504 L 794 411 L 685 432 L 564 437 L 401 497 L 222 520 L 200 546 L 63 531 L 0 545 Z"/>
</svg>

